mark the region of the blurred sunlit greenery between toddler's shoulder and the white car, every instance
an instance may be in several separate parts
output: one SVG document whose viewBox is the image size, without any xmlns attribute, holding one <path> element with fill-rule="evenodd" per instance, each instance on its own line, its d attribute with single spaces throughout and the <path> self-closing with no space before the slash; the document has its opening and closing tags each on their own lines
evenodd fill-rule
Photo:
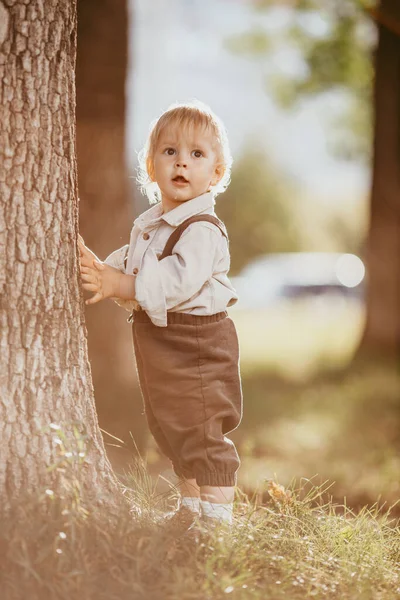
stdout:
<svg viewBox="0 0 400 600">
<path fill-rule="evenodd" d="M 349 205 L 329 209 L 296 185 L 254 140 L 235 160 L 217 213 L 231 241 L 231 275 L 274 252 L 354 252 L 365 236 L 365 215 Z"/>
</svg>

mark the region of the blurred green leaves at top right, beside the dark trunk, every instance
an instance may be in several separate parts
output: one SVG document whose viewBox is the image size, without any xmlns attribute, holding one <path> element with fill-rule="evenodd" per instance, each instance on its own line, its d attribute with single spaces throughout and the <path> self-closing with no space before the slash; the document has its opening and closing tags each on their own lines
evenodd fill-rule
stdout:
<svg viewBox="0 0 400 600">
<path fill-rule="evenodd" d="M 263 31 L 258 25 L 256 31 L 228 40 L 231 50 L 266 56 L 269 63 L 282 49 L 300 59 L 296 74 L 275 71 L 268 78 L 268 90 L 282 107 L 339 92 L 344 102 L 333 123 L 337 131 L 331 149 L 348 159 L 370 155 L 376 31 L 366 9 L 374 4 L 374 0 L 258 0 L 260 13 L 285 12 L 284 30 Z"/>
</svg>

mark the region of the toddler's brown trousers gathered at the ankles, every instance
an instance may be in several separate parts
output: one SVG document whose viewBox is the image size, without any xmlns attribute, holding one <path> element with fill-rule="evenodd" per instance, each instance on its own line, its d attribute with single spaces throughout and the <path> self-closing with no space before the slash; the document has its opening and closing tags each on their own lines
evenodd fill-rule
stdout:
<svg viewBox="0 0 400 600">
<path fill-rule="evenodd" d="M 135 311 L 132 324 L 149 429 L 178 477 L 234 486 L 240 459 L 225 434 L 243 414 L 235 325 L 226 312 L 167 318 L 157 327 Z"/>
</svg>

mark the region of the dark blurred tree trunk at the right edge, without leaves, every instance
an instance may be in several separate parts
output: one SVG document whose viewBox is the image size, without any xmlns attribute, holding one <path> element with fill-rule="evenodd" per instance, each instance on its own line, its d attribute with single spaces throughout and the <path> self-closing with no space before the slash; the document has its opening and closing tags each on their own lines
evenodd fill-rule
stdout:
<svg viewBox="0 0 400 600">
<path fill-rule="evenodd" d="M 360 352 L 393 357 L 400 356 L 400 37 L 387 19 L 400 23 L 400 9 L 383 0 L 380 10 L 385 21 L 376 53 L 367 321 Z"/>
</svg>

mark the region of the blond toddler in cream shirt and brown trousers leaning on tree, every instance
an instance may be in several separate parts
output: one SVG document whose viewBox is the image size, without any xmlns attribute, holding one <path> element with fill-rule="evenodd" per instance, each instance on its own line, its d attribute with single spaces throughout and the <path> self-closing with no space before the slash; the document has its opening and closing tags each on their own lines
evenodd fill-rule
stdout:
<svg viewBox="0 0 400 600">
<path fill-rule="evenodd" d="M 130 243 L 101 262 L 80 237 L 86 304 L 112 298 L 131 315 L 144 411 L 179 478 L 175 517 L 232 522 L 240 459 L 225 434 L 242 418 L 239 347 L 227 307 L 237 301 L 215 197 L 232 158 L 208 106 L 174 104 L 150 127 L 138 182 L 154 204 Z"/>
</svg>

